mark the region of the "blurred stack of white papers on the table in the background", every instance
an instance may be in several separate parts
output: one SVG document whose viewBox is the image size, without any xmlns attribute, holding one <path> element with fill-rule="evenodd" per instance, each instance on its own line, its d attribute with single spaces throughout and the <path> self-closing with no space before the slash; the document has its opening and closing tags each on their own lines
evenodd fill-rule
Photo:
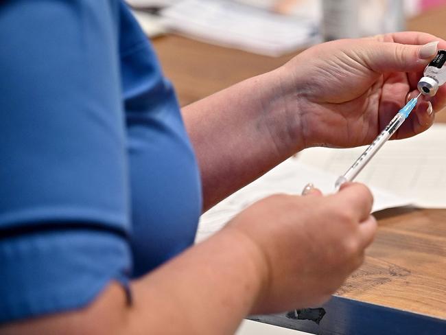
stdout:
<svg viewBox="0 0 446 335">
<path fill-rule="evenodd" d="M 226 0 L 185 0 L 161 12 L 172 30 L 208 43 L 280 56 L 316 41 L 317 23 Z"/>
</svg>

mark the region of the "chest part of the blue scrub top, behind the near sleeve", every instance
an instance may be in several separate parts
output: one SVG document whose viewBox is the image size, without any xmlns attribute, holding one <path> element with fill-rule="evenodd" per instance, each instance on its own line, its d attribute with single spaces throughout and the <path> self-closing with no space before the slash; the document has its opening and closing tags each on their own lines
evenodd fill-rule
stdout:
<svg viewBox="0 0 446 335">
<path fill-rule="evenodd" d="M 132 276 L 139 277 L 193 244 L 202 193 L 198 163 L 172 84 L 124 3 L 120 17 Z"/>
</svg>

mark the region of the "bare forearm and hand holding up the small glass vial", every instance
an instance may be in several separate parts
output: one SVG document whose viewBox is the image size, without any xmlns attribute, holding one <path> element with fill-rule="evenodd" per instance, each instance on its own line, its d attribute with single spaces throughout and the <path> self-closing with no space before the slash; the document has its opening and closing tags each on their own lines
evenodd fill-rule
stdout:
<svg viewBox="0 0 446 335">
<path fill-rule="evenodd" d="M 437 48 L 446 42 L 417 32 L 323 43 L 185 106 L 204 210 L 300 150 L 371 143 L 415 93 Z M 397 138 L 432 125 L 430 111 L 445 106 L 446 86 L 430 102 L 421 99 Z"/>
</svg>

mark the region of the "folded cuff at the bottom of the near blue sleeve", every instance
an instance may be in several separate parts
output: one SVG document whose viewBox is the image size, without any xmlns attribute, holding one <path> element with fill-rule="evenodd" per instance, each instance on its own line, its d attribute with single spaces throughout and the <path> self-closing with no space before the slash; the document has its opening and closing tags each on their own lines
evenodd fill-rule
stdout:
<svg viewBox="0 0 446 335">
<path fill-rule="evenodd" d="M 0 325 L 85 308 L 113 281 L 131 301 L 130 249 L 104 231 L 0 240 Z"/>
</svg>

